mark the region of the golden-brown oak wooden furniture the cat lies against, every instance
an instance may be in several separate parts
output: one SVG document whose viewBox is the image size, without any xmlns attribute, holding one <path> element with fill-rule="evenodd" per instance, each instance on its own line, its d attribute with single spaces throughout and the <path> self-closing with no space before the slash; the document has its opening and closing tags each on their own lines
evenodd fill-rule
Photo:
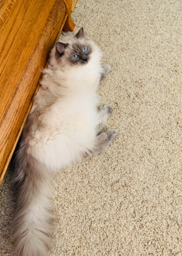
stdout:
<svg viewBox="0 0 182 256">
<path fill-rule="evenodd" d="M 0 2 L 0 184 L 62 29 L 72 31 L 76 0 Z"/>
</svg>

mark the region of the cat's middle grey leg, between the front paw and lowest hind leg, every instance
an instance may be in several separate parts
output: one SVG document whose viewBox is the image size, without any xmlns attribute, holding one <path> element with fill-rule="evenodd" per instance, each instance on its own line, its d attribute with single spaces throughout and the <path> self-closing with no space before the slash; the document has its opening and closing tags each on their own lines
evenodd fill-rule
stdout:
<svg viewBox="0 0 182 256">
<path fill-rule="evenodd" d="M 98 111 L 99 123 L 96 126 L 96 134 L 98 134 L 106 126 L 111 110 L 111 106 L 109 104 L 106 104 L 102 106 Z"/>
</svg>

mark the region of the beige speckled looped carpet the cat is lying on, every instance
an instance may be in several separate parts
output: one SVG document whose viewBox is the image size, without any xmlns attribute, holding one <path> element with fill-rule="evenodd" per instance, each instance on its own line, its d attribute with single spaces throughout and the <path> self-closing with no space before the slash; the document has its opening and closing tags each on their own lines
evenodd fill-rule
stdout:
<svg viewBox="0 0 182 256">
<path fill-rule="evenodd" d="M 78 0 L 72 18 L 112 66 L 99 94 L 119 136 L 106 154 L 56 174 L 50 256 L 181 256 L 182 1 Z M 14 256 L 10 175 L 2 256 Z"/>
</svg>

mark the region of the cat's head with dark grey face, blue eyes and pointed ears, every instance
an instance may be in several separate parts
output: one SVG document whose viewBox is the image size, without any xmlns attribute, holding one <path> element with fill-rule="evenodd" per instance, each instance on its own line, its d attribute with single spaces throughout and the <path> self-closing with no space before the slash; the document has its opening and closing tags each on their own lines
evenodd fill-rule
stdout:
<svg viewBox="0 0 182 256">
<path fill-rule="evenodd" d="M 53 68 L 68 70 L 73 66 L 87 65 L 95 51 L 98 51 L 98 48 L 92 40 L 84 36 L 83 28 L 80 28 L 76 35 L 65 37 L 62 42 L 56 42 L 49 63 Z"/>
</svg>

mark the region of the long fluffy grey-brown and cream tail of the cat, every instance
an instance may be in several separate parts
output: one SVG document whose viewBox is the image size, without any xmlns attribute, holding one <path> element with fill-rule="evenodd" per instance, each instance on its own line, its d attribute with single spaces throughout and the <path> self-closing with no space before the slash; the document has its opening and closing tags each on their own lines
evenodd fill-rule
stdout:
<svg viewBox="0 0 182 256">
<path fill-rule="evenodd" d="M 46 256 L 52 233 L 50 172 L 32 157 L 21 156 L 16 174 L 14 240 L 17 256 Z"/>
</svg>

